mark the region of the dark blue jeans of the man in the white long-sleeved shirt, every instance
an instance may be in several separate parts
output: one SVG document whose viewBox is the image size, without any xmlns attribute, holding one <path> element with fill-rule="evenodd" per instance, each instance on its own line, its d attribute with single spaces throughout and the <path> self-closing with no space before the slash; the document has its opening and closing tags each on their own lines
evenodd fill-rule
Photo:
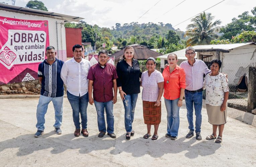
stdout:
<svg viewBox="0 0 256 167">
<path fill-rule="evenodd" d="M 79 113 L 81 115 L 82 129 L 87 129 L 88 92 L 84 96 L 75 96 L 67 91 L 67 97 L 73 110 L 73 121 L 76 129 L 80 129 Z"/>
</svg>

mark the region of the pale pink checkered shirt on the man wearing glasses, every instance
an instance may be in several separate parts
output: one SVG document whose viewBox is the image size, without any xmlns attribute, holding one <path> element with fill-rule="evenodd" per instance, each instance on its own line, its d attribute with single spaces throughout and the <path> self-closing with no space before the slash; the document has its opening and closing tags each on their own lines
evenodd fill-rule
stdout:
<svg viewBox="0 0 256 167">
<path fill-rule="evenodd" d="M 180 67 L 186 73 L 186 90 L 196 91 L 203 87 L 203 74 L 206 75 L 210 70 L 202 60 L 195 59 L 193 66 L 186 60 L 180 64 Z"/>
</svg>

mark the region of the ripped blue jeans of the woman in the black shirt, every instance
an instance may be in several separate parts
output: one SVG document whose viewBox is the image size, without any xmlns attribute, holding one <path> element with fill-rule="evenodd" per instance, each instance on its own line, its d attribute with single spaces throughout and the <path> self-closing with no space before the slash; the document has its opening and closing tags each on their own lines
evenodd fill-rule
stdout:
<svg viewBox="0 0 256 167">
<path fill-rule="evenodd" d="M 133 130 L 132 124 L 134 119 L 134 111 L 138 94 L 124 95 L 123 107 L 124 107 L 124 126 L 126 132 L 130 133 Z"/>
</svg>

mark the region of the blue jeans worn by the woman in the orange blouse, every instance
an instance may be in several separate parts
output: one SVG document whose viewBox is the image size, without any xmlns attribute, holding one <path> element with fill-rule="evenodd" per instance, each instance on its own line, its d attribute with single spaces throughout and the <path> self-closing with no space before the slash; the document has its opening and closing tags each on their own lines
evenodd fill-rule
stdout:
<svg viewBox="0 0 256 167">
<path fill-rule="evenodd" d="M 178 107 L 178 99 L 168 100 L 164 98 L 164 103 L 167 111 L 167 134 L 171 136 L 178 136 L 180 126 L 180 116 Z"/>
</svg>

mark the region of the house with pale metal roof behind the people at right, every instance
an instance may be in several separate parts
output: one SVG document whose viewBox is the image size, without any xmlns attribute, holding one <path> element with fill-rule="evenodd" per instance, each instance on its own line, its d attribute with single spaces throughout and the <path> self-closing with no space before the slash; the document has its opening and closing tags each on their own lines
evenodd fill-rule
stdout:
<svg viewBox="0 0 256 167">
<path fill-rule="evenodd" d="M 196 45 L 193 48 L 196 51 L 196 58 L 203 60 L 206 65 L 209 65 L 212 59 L 220 59 L 222 61 L 220 72 L 228 74 L 230 85 L 236 85 L 243 74 L 248 76 L 249 66 L 256 64 L 256 43 L 254 42 Z M 173 53 L 178 56 L 178 65 L 182 61 L 187 60 L 185 49 Z M 161 68 L 164 68 L 169 54 L 159 56 L 161 59 Z"/>
</svg>

